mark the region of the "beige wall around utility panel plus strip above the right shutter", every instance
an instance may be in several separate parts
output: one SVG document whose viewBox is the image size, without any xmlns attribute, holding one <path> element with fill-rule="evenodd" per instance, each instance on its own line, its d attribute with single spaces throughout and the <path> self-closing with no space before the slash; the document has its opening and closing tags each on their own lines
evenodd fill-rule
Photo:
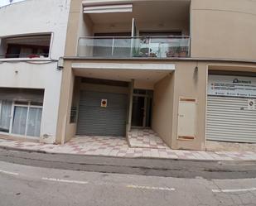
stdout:
<svg viewBox="0 0 256 206">
<path fill-rule="evenodd" d="M 196 69 L 198 67 L 198 69 Z M 205 150 L 205 122 L 207 107 L 208 71 L 256 72 L 256 64 L 221 61 L 177 61 L 174 72 L 174 94 L 171 148 L 187 150 Z M 196 139 L 178 140 L 179 98 L 196 98 Z"/>
</svg>

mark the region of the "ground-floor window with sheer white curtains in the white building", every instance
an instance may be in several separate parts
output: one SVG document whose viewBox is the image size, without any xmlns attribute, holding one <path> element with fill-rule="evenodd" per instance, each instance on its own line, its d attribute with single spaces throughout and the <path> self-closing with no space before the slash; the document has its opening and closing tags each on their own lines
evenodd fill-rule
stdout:
<svg viewBox="0 0 256 206">
<path fill-rule="evenodd" d="M 0 88 L 0 132 L 40 137 L 43 89 Z"/>
</svg>

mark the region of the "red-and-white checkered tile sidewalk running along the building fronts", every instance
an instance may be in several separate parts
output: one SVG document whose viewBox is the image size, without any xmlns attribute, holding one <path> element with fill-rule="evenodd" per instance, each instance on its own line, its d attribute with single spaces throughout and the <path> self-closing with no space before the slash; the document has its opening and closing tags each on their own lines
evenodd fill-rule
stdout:
<svg viewBox="0 0 256 206">
<path fill-rule="evenodd" d="M 0 136 L 1 138 L 1 136 Z M 43 143 L 0 139 L 0 147 L 49 153 L 65 153 L 88 156 L 145 157 L 181 160 L 256 160 L 253 151 L 181 151 L 170 148 L 131 148 L 122 137 L 75 137 L 65 145 L 46 145 Z"/>
</svg>

